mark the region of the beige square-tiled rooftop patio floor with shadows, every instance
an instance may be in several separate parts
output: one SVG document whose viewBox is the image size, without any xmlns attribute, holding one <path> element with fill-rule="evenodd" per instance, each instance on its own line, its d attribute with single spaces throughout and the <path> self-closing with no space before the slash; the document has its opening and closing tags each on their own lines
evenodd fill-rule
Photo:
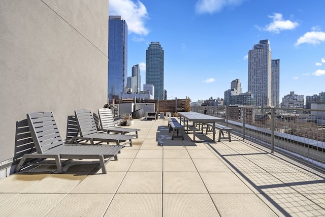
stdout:
<svg viewBox="0 0 325 217">
<path fill-rule="evenodd" d="M 167 125 L 135 120 L 139 138 L 106 165 L 107 174 L 98 162 L 75 160 L 63 174 L 40 166 L 0 179 L 0 215 L 325 215 L 324 173 L 236 136 L 172 140 Z"/>
</svg>

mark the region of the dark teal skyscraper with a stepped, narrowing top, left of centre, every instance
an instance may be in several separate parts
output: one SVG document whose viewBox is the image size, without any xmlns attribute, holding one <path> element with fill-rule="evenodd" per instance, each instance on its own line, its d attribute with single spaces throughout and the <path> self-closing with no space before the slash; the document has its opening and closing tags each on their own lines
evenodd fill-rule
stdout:
<svg viewBox="0 0 325 217">
<path fill-rule="evenodd" d="M 154 86 L 154 99 L 164 99 L 164 50 L 151 42 L 146 51 L 146 84 Z"/>
</svg>

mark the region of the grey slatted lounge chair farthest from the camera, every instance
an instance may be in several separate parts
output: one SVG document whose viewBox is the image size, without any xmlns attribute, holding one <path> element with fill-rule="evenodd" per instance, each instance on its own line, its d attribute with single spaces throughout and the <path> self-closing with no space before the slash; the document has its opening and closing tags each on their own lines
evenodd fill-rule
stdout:
<svg viewBox="0 0 325 217">
<path fill-rule="evenodd" d="M 111 109 L 109 108 L 99 109 L 98 114 L 100 116 L 100 123 L 101 123 L 101 127 L 99 128 L 99 130 L 104 130 L 107 131 L 108 133 L 120 133 L 122 135 L 126 133 L 136 133 L 135 135 L 138 138 L 138 131 L 140 131 L 140 129 L 121 128 L 115 126 Z"/>
</svg>

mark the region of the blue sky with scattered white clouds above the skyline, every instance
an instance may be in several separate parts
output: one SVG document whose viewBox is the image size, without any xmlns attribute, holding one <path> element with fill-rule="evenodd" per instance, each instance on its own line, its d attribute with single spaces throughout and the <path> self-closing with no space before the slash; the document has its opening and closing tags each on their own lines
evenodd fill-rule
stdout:
<svg viewBox="0 0 325 217">
<path fill-rule="evenodd" d="M 268 39 L 280 59 L 280 102 L 325 91 L 325 1 L 109 0 L 128 25 L 128 66 L 141 66 L 150 42 L 165 50 L 168 99 L 224 98 L 234 79 L 247 91 L 247 54 Z"/>
</svg>

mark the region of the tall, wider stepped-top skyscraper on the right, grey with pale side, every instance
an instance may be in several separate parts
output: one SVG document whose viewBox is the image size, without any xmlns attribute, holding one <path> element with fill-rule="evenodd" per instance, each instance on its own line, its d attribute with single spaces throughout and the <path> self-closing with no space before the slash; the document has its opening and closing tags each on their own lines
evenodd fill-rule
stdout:
<svg viewBox="0 0 325 217">
<path fill-rule="evenodd" d="M 248 51 L 248 91 L 256 106 L 271 106 L 271 59 L 269 40 L 261 40 Z"/>
</svg>

